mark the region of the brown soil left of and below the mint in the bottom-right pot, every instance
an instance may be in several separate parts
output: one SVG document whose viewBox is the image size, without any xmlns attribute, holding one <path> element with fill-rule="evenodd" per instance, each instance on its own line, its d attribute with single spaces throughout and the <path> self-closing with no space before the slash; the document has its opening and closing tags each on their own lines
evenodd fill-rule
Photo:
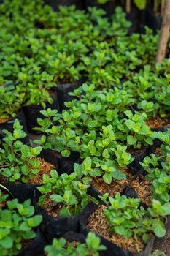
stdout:
<svg viewBox="0 0 170 256">
<path fill-rule="evenodd" d="M 140 239 L 125 239 L 120 235 L 113 235 L 110 232 L 109 224 L 104 215 L 104 208 L 107 208 L 107 206 L 98 206 L 96 211 L 94 211 L 93 214 L 90 215 L 88 219 L 88 225 L 86 227 L 88 227 L 89 230 L 97 233 L 98 235 L 103 236 L 117 246 L 120 246 L 123 249 L 128 249 L 134 254 L 138 251 L 142 251 L 144 249 L 144 243 Z"/>
</svg>

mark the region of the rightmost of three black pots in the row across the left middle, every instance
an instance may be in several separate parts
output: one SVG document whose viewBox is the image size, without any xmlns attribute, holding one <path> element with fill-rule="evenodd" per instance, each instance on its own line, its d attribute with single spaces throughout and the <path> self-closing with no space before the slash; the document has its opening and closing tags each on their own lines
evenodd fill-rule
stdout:
<svg viewBox="0 0 170 256">
<path fill-rule="evenodd" d="M 64 105 L 64 102 L 69 102 L 72 99 L 76 99 L 76 97 L 70 96 L 69 92 L 74 91 L 78 87 L 80 87 L 84 83 L 84 80 L 77 80 L 74 83 L 63 83 L 63 84 L 58 84 L 54 90 L 58 94 L 58 103 L 59 103 L 59 108 L 62 111 L 63 109 L 67 109 L 66 106 Z"/>
</svg>

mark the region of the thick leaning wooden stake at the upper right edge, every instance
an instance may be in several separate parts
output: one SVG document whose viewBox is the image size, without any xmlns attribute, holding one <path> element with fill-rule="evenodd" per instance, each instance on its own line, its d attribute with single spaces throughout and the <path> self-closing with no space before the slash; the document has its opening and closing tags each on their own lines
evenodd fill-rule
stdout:
<svg viewBox="0 0 170 256">
<path fill-rule="evenodd" d="M 161 35 L 158 43 L 156 61 L 163 61 L 163 59 L 166 56 L 166 45 L 169 40 L 169 29 L 170 29 L 170 0 L 166 0 L 166 6 L 165 6 L 165 11 L 163 13 Z"/>
</svg>

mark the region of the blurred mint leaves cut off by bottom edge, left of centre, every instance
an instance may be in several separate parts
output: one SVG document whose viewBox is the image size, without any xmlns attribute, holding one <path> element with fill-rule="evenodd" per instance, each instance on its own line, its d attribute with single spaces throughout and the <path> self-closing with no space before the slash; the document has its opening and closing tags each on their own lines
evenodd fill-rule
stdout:
<svg viewBox="0 0 170 256">
<path fill-rule="evenodd" d="M 88 233 L 88 236 L 85 239 L 85 244 L 80 244 L 77 242 L 76 246 L 73 246 L 71 243 L 67 243 L 65 238 L 54 238 L 52 245 L 45 246 L 45 252 L 47 252 L 47 256 L 99 256 L 99 251 L 104 251 L 105 249 L 105 246 L 100 245 L 100 238 L 98 238 L 92 232 Z"/>
</svg>

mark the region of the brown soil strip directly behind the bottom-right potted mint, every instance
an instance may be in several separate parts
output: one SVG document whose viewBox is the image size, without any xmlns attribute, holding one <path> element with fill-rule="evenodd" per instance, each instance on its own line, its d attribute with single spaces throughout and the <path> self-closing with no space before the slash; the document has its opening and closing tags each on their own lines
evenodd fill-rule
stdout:
<svg viewBox="0 0 170 256">
<path fill-rule="evenodd" d="M 126 179 L 117 181 L 113 180 L 111 184 L 106 184 L 102 178 L 94 178 L 92 181 L 93 187 L 96 187 L 101 194 L 109 193 L 110 197 L 114 197 L 117 192 L 122 192 L 125 187 L 131 186 L 135 189 L 139 199 L 147 205 L 151 202 L 152 197 L 152 181 L 140 174 L 133 176 L 128 170 L 123 170 L 126 174 Z"/>
</svg>

